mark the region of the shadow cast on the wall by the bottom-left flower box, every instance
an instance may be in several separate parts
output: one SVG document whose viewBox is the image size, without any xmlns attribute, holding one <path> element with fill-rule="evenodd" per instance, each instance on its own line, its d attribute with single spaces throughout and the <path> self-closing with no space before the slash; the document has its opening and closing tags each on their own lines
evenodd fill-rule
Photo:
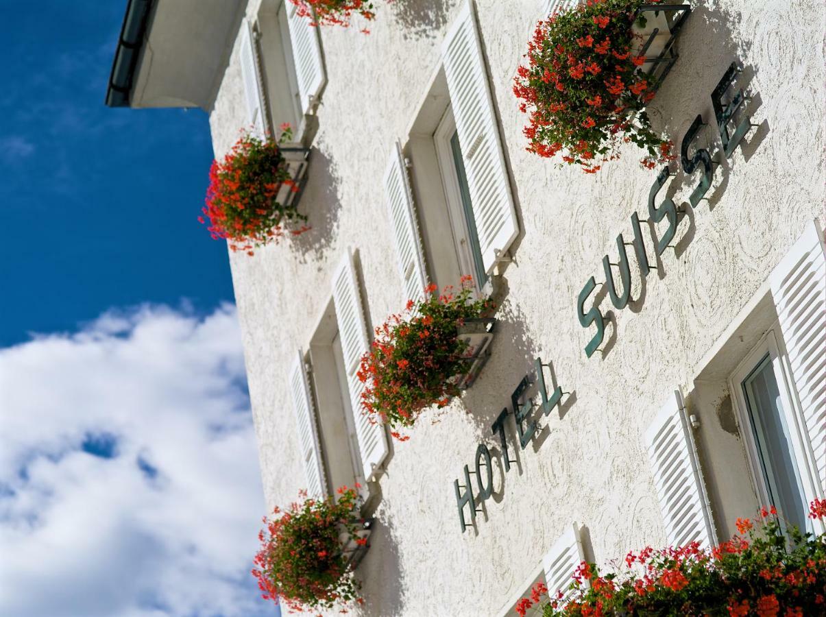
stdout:
<svg viewBox="0 0 826 617">
<path fill-rule="evenodd" d="M 356 577 L 365 592 L 361 615 L 404 615 L 405 590 L 399 559 L 399 548 L 393 539 L 390 524 L 379 520 L 373 523 L 370 548 L 356 569 Z"/>
</svg>

